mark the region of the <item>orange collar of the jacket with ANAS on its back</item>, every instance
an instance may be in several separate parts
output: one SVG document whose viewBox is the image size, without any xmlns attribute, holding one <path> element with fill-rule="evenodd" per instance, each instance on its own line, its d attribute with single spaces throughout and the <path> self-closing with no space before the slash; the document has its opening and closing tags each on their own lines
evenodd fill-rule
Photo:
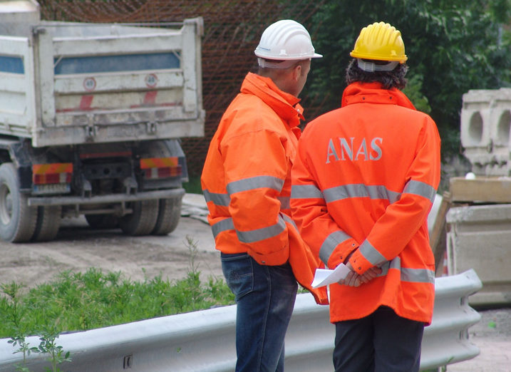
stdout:
<svg viewBox="0 0 511 372">
<path fill-rule="evenodd" d="M 381 83 L 351 83 L 342 95 L 341 107 L 352 103 L 386 103 L 415 110 L 405 93 L 397 88 L 383 89 Z"/>
</svg>

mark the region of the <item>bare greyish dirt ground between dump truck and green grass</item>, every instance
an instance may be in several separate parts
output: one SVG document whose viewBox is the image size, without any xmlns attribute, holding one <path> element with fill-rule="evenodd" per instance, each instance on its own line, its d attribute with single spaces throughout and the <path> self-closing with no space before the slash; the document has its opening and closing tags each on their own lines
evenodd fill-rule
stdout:
<svg viewBox="0 0 511 372">
<path fill-rule="evenodd" d="M 193 208 L 193 199 L 191 203 Z M 191 264 L 187 237 L 196 244 L 194 264 L 201 279 L 222 278 L 220 254 L 211 229 L 200 219 L 181 217 L 177 229 L 167 236 L 130 237 L 120 229 L 92 229 L 85 218 L 78 217 L 64 219 L 51 242 L 0 242 L 0 283 L 14 280 L 32 287 L 63 270 L 85 272 L 91 267 L 122 272 L 134 281 L 159 274 L 163 279 L 181 279 Z"/>
</svg>

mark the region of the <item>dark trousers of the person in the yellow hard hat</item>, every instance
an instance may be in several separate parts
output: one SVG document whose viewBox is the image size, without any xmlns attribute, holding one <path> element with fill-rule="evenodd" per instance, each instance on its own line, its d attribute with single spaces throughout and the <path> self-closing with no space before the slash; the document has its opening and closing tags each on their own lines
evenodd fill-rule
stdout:
<svg viewBox="0 0 511 372">
<path fill-rule="evenodd" d="M 336 323 L 336 372 L 414 372 L 420 366 L 424 324 L 380 306 L 362 319 Z"/>
</svg>

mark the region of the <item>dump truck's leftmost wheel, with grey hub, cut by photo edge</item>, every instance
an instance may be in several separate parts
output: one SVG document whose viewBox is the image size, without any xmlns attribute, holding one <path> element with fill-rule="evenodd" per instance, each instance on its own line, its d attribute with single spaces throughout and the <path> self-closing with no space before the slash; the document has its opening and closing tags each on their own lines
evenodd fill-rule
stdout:
<svg viewBox="0 0 511 372">
<path fill-rule="evenodd" d="M 29 207 L 27 197 L 19 192 L 16 167 L 11 162 L 0 165 L 0 238 L 6 242 L 28 242 L 36 229 L 37 208 Z"/>
</svg>

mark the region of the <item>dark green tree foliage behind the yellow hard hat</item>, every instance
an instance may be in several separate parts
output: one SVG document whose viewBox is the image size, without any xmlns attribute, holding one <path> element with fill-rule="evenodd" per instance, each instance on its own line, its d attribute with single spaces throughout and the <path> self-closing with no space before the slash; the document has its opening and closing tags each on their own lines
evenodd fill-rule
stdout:
<svg viewBox="0 0 511 372">
<path fill-rule="evenodd" d="M 339 107 L 355 40 L 363 26 L 385 21 L 401 31 L 408 56 L 406 93 L 430 108 L 443 155 L 459 149 L 460 109 L 470 89 L 510 86 L 511 0 L 326 0 L 314 14 L 311 35 L 324 58 L 315 60 L 308 95 Z"/>
</svg>

